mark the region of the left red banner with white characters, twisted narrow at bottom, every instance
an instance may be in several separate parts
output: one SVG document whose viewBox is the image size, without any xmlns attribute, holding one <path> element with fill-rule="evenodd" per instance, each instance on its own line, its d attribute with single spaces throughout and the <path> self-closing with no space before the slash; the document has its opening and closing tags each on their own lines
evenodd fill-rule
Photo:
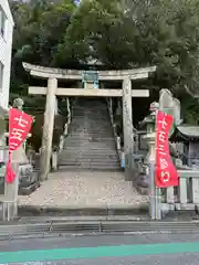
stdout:
<svg viewBox="0 0 199 265">
<path fill-rule="evenodd" d="M 33 117 L 17 109 L 9 110 L 9 161 L 7 165 L 7 182 L 13 182 L 15 173 L 11 168 L 11 153 L 17 150 L 25 140 L 31 126 Z"/>
</svg>

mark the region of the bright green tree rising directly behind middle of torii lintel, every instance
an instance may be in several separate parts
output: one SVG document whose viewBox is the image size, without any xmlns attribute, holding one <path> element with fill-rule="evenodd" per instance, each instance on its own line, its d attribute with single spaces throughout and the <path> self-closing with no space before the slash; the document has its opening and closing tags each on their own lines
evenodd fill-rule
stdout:
<svg viewBox="0 0 199 265">
<path fill-rule="evenodd" d="M 71 19 L 63 43 L 59 45 L 57 57 L 87 62 L 93 56 L 107 67 L 125 67 L 132 54 L 130 32 L 124 29 L 122 17 L 118 0 L 82 1 Z"/>
</svg>

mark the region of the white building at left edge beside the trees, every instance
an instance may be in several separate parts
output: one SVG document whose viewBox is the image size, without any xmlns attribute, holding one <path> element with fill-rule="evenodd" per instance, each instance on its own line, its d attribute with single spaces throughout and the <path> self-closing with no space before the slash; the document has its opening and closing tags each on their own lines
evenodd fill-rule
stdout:
<svg viewBox="0 0 199 265">
<path fill-rule="evenodd" d="M 0 0 L 0 146 L 4 132 L 3 117 L 7 114 L 9 103 L 13 26 L 14 22 L 9 2 Z"/>
</svg>

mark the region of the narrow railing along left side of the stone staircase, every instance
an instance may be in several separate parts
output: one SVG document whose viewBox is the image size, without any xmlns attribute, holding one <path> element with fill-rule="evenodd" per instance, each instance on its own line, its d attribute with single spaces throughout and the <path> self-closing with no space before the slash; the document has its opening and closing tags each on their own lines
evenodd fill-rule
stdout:
<svg viewBox="0 0 199 265">
<path fill-rule="evenodd" d="M 64 148 L 64 141 L 65 138 L 69 134 L 69 129 L 70 129 L 70 125 L 71 125 L 71 106 L 70 106 L 70 100 L 69 97 L 66 98 L 66 107 L 67 107 L 67 118 L 66 118 L 66 123 L 64 125 L 64 131 L 63 134 L 60 136 L 60 145 L 59 145 L 59 149 L 54 150 L 52 152 L 52 170 L 57 170 L 59 167 L 59 161 L 57 161 L 57 157 L 59 153 L 63 150 Z"/>
</svg>

